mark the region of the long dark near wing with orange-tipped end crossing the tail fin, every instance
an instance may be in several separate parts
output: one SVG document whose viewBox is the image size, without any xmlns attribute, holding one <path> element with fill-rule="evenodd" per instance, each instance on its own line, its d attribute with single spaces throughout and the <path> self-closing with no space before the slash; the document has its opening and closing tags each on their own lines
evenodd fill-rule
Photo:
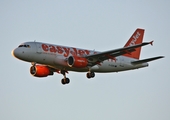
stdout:
<svg viewBox="0 0 170 120">
<path fill-rule="evenodd" d="M 124 54 L 131 54 L 132 52 L 135 51 L 135 48 L 139 48 L 148 44 L 152 45 L 152 42 L 144 42 L 141 44 L 136 44 L 136 45 L 132 45 L 132 46 L 128 46 L 128 47 L 123 47 L 123 48 L 119 48 L 119 49 L 114 49 L 114 50 L 109 50 L 109 51 L 105 51 L 105 52 L 100 52 L 100 53 L 96 53 L 93 55 L 88 55 L 85 58 L 88 59 L 90 66 L 94 66 L 96 64 L 99 64 L 100 62 L 103 62 L 104 60 L 107 59 L 113 59 L 116 60 L 115 57 L 120 56 L 120 55 L 124 55 Z"/>
</svg>

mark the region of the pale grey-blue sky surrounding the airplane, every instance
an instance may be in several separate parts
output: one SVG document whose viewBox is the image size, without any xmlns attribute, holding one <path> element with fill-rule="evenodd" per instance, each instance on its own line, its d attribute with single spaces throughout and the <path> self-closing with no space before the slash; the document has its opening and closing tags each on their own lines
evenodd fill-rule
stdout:
<svg viewBox="0 0 170 120">
<path fill-rule="evenodd" d="M 169 0 L 1 0 L 0 120 L 169 120 Z M 149 67 L 120 73 L 30 75 L 30 63 L 11 51 L 39 41 L 106 51 L 123 47 L 145 29 L 141 59 L 163 55 Z"/>
</svg>

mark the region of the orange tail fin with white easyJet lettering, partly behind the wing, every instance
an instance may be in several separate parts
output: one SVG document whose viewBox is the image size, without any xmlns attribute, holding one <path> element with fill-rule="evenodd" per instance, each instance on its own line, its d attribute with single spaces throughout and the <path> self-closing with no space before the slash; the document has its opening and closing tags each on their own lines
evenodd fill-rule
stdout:
<svg viewBox="0 0 170 120">
<path fill-rule="evenodd" d="M 136 29 L 136 31 L 133 33 L 133 35 L 130 37 L 128 42 L 125 44 L 124 47 L 133 46 L 135 44 L 140 44 L 143 41 L 143 35 L 144 35 L 144 29 Z M 129 54 L 125 54 L 124 56 L 139 59 L 141 52 L 141 47 L 135 48 L 135 51 Z"/>
</svg>

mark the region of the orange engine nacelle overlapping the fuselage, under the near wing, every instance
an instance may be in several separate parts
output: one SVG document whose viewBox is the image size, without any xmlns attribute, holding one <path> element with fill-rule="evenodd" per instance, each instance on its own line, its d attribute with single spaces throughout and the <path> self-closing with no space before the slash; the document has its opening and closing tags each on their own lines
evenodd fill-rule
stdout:
<svg viewBox="0 0 170 120">
<path fill-rule="evenodd" d="M 86 58 L 82 57 L 77 57 L 77 56 L 70 56 L 67 60 L 67 64 L 70 67 L 75 67 L 75 68 L 84 68 L 87 67 L 88 61 Z"/>
</svg>

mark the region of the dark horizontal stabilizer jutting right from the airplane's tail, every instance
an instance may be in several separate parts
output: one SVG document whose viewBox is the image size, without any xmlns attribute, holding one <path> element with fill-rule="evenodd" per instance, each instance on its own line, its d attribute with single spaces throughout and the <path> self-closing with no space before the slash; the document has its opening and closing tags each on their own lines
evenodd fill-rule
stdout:
<svg viewBox="0 0 170 120">
<path fill-rule="evenodd" d="M 143 59 L 143 60 L 137 60 L 137 61 L 133 61 L 131 63 L 134 64 L 134 65 L 137 65 L 137 64 L 142 64 L 142 63 L 150 62 L 150 61 L 153 61 L 153 60 L 157 60 L 157 59 L 160 59 L 160 58 L 164 58 L 164 56 L 158 56 L 158 57 L 153 57 L 153 58 L 148 58 L 148 59 Z"/>
</svg>

